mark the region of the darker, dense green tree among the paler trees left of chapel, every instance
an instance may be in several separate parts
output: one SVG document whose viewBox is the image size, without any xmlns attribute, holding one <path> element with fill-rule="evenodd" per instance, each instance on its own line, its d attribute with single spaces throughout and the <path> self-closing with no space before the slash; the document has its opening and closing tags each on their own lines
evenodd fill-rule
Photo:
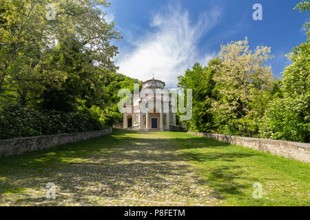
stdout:
<svg viewBox="0 0 310 220">
<path fill-rule="evenodd" d="M 65 78 L 45 85 L 39 106 L 42 109 L 73 111 L 80 100 L 90 108 L 103 106 L 102 96 L 107 71 L 95 67 L 90 52 L 83 51 L 83 44 L 76 38 L 65 39 L 50 53 L 45 70 L 61 72 Z"/>
</svg>

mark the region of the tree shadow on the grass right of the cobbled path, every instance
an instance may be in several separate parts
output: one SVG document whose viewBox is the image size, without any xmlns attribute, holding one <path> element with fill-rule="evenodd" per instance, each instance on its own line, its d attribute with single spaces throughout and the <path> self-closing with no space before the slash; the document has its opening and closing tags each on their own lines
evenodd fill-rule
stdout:
<svg viewBox="0 0 310 220">
<path fill-rule="evenodd" d="M 236 151 L 229 143 L 206 137 L 174 138 L 172 141 L 183 151 L 183 157 L 198 164 L 200 173 L 215 190 L 212 194 L 216 196 L 220 192 L 219 199 L 245 196 L 244 191 L 252 187 L 246 182 L 257 181 L 242 170 L 244 164 L 238 163 L 240 159 L 253 157 L 254 153 Z"/>
</svg>

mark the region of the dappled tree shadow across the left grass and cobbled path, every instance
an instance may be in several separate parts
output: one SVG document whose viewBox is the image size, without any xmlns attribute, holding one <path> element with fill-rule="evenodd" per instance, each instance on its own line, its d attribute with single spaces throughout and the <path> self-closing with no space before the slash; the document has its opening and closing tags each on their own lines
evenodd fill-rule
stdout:
<svg viewBox="0 0 310 220">
<path fill-rule="evenodd" d="M 146 193 L 155 191 L 158 195 L 172 184 L 186 187 L 182 177 L 192 170 L 182 164 L 182 157 L 172 153 L 167 139 L 150 140 L 134 134 L 141 132 L 116 130 L 111 135 L 1 158 L 0 193 L 14 188 L 40 190 L 48 182 L 61 187 L 61 192 L 103 197 L 122 197 L 128 191 L 142 195 L 146 185 L 150 189 Z M 175 179 L 167 181 L 168 176 Z M 186 191 L 177 191 L 176 195 L 188 196 Z M 36 201 L 41 199 L 18 200 Z"/>
</svg>

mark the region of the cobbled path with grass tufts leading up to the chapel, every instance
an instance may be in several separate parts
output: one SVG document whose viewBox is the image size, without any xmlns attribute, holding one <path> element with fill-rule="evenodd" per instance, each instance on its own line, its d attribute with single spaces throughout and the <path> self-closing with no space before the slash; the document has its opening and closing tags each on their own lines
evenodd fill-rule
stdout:
<svg viewBox="0 0 310 220">
<path fill-rule="evenodd" d="M 100 137 L 100 142 L 105 143 Z M 2 201 L 20 205 L 63 206 L 216 206 L 220 204 L 198 170 L 181 157 L 165 133 L 121 133 L 110 148 L 91 151 L 81 162 L 46 168 L 45 175 L 17 174 L 14 184 L 27 188 Z M 111 140 L 112 138 L 112 140 Z M 83 149 L 84 151 L 85 149 Z M 45 199 L 47 182 L 56 199 Z M 211 193 L 213 192 L 213 193 Z M 0 201 L 1 203 L 1 201 Z"/>
</svg>

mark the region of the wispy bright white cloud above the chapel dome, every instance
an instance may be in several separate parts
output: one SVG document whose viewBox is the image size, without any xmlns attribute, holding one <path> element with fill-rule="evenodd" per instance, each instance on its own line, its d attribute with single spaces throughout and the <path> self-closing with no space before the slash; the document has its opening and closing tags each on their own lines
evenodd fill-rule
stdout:
<svg viewBox="0 0 310 220">
<path fill-rule="evenodd" d="M 214 53 L 199 55 L 198 41 L 220 19 L 220 10 L 213 9 L 200 15 L 196 23 L 189 19 L 189 12 L 180 5 L 168 5 L 154 14 L 150 31 L 136 38 L 133 50 L 121 48 L 116 57 L 118 72 L 127 76 L 165 81 L 166 87 L 176 87 L 177 76 L 184 74 L 194 62 L 206 65 Z"/>
</svg>

